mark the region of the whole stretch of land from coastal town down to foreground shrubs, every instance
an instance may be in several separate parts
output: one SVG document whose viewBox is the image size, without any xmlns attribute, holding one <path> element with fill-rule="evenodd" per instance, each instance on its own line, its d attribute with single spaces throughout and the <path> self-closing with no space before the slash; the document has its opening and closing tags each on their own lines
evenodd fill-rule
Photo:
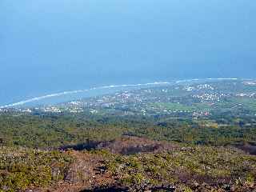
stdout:
<svg viewBox="0 0 256 192">
<path fill-rule="evenodd" d="M 89 98 L 61 105 L 63 113 L 2 111 L 0 192 L 66 182 L 79 190 L 255 191 L 255 91 L 213 82 Z"/>
</svg>

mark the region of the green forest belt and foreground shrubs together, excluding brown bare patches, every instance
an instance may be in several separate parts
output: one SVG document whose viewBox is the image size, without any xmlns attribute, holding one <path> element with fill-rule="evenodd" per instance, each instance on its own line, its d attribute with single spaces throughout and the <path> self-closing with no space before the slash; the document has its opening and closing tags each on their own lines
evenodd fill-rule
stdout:
<svg viewBox="0 0 256 192">
<path fill-rule="evenodd" d="M 59 147 L 86 144 L 88 141 L 109 141 L 122 135 L 185 145 L 184 149 L 181 147 L 169 153 L 130 156 L 101 154 L 98 151 L 104 157 L 111 177 L 122 186 L 134 189 L 173 183 L 179 189 L 177 191 L 193 191 L 203 182 L 216 189 L 252 186 L 256 177 L 255 156 L 211 146 L 242 146 L 246 142 L 253 145 L 256 141 L 254 122 L 256 119 L 252 117 L 226 115 L 223 118 L 218 114 L 211 118 L 193 119 L 3 114 L 0 115 L 0 189 L 15 191 L 30 186 L 53 185 L 64 178 L 73 157 L 66 152 L 55 151 Z M 231 184 L 220 183 L 222 178 Z"/>
</svg>

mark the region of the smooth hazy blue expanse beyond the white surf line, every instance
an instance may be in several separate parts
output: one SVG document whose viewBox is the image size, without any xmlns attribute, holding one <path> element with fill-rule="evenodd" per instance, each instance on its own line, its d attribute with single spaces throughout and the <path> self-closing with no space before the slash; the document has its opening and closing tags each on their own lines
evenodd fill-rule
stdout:
<svg viewBox="0 0 256 192">
<path fill-rule="evenodd" d="M 0 106 L 65 90 L 255 78 L 251 0 L 0 1 Z"/>
</svg>

